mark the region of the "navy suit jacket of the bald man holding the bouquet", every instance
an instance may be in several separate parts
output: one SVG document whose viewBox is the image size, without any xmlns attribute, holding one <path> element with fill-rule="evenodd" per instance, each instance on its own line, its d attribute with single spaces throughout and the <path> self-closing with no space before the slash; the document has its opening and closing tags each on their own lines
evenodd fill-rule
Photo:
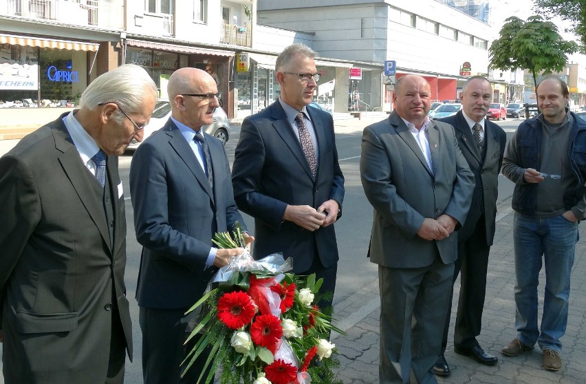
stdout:
<svg viewBox="0 0 586 384">
<path fill-rule="evenodd" d="M 136 290 L 139 306 L 192 306 L 217 271 L 205 265 L 213 235 L 231 231 L 237 221 L 244 226 L 224 147 L 204 135 L 212 159 L 213 189 L 171 119 L 134 153 L 130 190 L 136 238 L 143 246 Z"/>
</svg>

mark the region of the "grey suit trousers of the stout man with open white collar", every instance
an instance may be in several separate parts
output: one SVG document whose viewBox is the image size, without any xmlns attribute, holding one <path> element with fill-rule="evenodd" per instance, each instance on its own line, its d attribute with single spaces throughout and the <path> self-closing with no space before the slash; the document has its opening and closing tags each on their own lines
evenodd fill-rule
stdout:
<svg viewBox="0 0 586 384">
<path fill-rule="evenodd" d="M 454 264 L 439 254 L 422 268 L 378 266 L 380 383 L 437 383 L 430 372 L 441 348 Z"/>
</svg>

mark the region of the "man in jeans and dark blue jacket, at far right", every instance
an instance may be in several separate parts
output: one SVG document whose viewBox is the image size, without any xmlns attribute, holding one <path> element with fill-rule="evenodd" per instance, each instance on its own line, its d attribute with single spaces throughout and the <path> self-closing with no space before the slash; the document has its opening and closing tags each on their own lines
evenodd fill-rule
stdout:
<svg viewBox="0 0 586 384">
<path fill-rule="evenodd" d="M 536 94 L 541 114 L 519 125 L 503 160 L 503 174 L 516 184 L 512 208 L 518 333 L 501 352 L 517 356 L 538 343 L 543 367 L 557 371 L 578 222 L 586 217 L 586 121 L 568 111 L 569 92 L 559 78 L 545 78 Z M 537 286 L 543 262 L 546 289 L 540 329 Z"/>
</svg>

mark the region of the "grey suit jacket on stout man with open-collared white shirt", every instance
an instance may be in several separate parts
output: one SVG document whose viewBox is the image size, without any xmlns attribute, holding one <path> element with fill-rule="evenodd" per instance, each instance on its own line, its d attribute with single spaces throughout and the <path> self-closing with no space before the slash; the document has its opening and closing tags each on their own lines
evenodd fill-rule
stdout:
<svg viewBox="0 0 586 384">
<path fill-rule="evenodd" d="M 470 207 L 474 176 L 462 156 L 454 129 L 428 126 L 433 173 L 422 150 L 396 112 L 362 134 L 360 178 L 374 208 L 369 255 L 390 268 L 430 265 L 437 252 L 445 264 L 457 258 L 457 233 L 441 241 L 417 235 L 425 218 L 444 213 L 459 225 Z"/>
</svg>

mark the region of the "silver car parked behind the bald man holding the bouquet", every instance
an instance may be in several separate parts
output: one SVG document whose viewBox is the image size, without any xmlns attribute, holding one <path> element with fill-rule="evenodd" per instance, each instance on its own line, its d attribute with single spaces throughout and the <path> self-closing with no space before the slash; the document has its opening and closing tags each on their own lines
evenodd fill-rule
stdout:
<svg viewBox="0 0 586 384">
<path fill-rule="evenodd" d="M 158 100 L 155 104 L 151 121 L 144 127 L 142 140 L 146 140 L 154 131 L 161 129 L 167 120 L 169 120 L 169 116 L 171 116 L 171 104 L 169 104 L 169 100 Z M 223 145 L 226 145 L 226 142 L 230 138 L 230 121 L 228 121 L 228 116 L 224 112 L 224 109 L 217 107 L 214 111 L 213 119 L 214 122 L 210 125 L 204 125 L 202 128 L 206 134 L 214 136 Z M 134 151 L 139 145 L 140 142 L 133 139 L 127 149 Z"/>
</svg>

